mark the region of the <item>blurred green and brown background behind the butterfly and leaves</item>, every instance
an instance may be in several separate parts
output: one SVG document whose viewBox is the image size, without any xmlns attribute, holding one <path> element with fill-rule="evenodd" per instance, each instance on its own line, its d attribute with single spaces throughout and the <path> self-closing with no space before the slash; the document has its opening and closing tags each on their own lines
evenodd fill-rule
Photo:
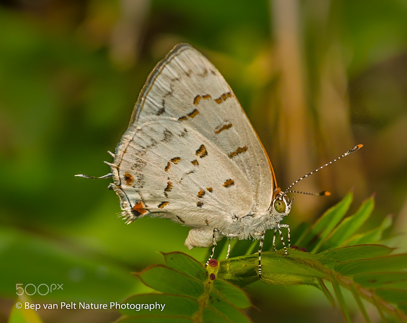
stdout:
<svg viewBox="0 0 407 323">
<path fill-rule="evenodd" d="M 386 237 L 407 250 L 406 0 L 0 0 L 0 322 L 16 283 L 64 284 L 32 301 L 120 302 L 148 291 L 130 272 L 162 263 L 159 251 L 204 259 L 205 249 L 184 246 L 187 227 L 125 225 L 109 179 L 73 176 L 109 172 L 103 160 L 147 75 L 179 42 L 230 83 L 283 189 L 365 145 L 296 185 L 332 195 L 295 196 L 284 223 L 313 223 L 350 189 L 350 211 L 376 192 L 364 229 L 392 213 Z M 254 322 L 343 321 L 313 287 L 256 282 L 247 291 Z M 118 317 L 37 313 L 46 323 Z"/>
</svg>

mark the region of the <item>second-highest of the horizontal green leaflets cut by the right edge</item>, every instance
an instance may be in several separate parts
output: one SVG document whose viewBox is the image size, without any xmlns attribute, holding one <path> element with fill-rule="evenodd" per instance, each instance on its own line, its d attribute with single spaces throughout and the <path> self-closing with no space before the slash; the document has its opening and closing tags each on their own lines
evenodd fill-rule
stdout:
<svg viewBox="0 0 407 323">
<path fill-rule="evenodd" d="M 353 277 L 355 283 L 366 288 L 407 288 L 407 272 L 373 272 Z"/>
</svg>

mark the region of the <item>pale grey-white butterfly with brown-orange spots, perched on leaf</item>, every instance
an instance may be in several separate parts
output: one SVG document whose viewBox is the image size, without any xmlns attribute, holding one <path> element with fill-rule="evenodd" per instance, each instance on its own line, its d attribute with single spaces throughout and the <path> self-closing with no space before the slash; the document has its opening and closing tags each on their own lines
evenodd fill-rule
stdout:
<svg viewBox="0 0 407 323">
<path fill-rule="evenodd" d="M 260 278 L 265 231 L 274 229 L 275 250 L 280 233 L 287 254 L 281 228 L 288 229 L 288 247 L 290 228 L 280 222 L 294 198 L 277 186 L 269 157 L 228 83 L 189 44 L 176 45 L 155 66 L 110 154 L 113 163 L 105 163 L 112 172 L 99 178 L 113 178 L 109 189 L 127 223 L 149 215 L 189 226 L 185 245 L 213 246 L 209 259 L 224 236 L 259 239 Z M 328 195 L 322 193 L 314 195 Z M 230 240 L 227 257 L 229 251 Z"/>
</svg>

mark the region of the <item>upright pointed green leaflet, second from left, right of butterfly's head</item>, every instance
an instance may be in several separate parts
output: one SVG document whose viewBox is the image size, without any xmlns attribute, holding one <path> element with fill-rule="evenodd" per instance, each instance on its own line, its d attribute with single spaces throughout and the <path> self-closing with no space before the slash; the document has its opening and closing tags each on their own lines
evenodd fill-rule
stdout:
<svg viewBox="0 0 407 323">
<path fill-rule="evenodd" d="M 354 215 L 342 220 L 342 222 L 330 233 L 322 245 L 322 249 L 337 248 L 344 244 L 359 227 L 369 218 L 374 208 L 374 198 L 371 196 L 365 200 Z"/>
</svg>

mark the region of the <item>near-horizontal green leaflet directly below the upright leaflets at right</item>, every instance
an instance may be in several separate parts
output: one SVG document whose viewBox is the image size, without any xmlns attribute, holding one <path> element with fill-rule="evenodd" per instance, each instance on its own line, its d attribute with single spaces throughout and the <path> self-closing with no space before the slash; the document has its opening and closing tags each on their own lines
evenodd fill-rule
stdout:
<svg viewBox="0 0 407 323">
<path fill-rule="evenodd" d="M 348 246 L 330 249 L 319 253 L 320 261 L 329 268 L 335 266 L 339 261 L 350 261 L 388 255 L 394 250 L 380 244 L 361 244 L 359 246 Z"/>
</svg>

